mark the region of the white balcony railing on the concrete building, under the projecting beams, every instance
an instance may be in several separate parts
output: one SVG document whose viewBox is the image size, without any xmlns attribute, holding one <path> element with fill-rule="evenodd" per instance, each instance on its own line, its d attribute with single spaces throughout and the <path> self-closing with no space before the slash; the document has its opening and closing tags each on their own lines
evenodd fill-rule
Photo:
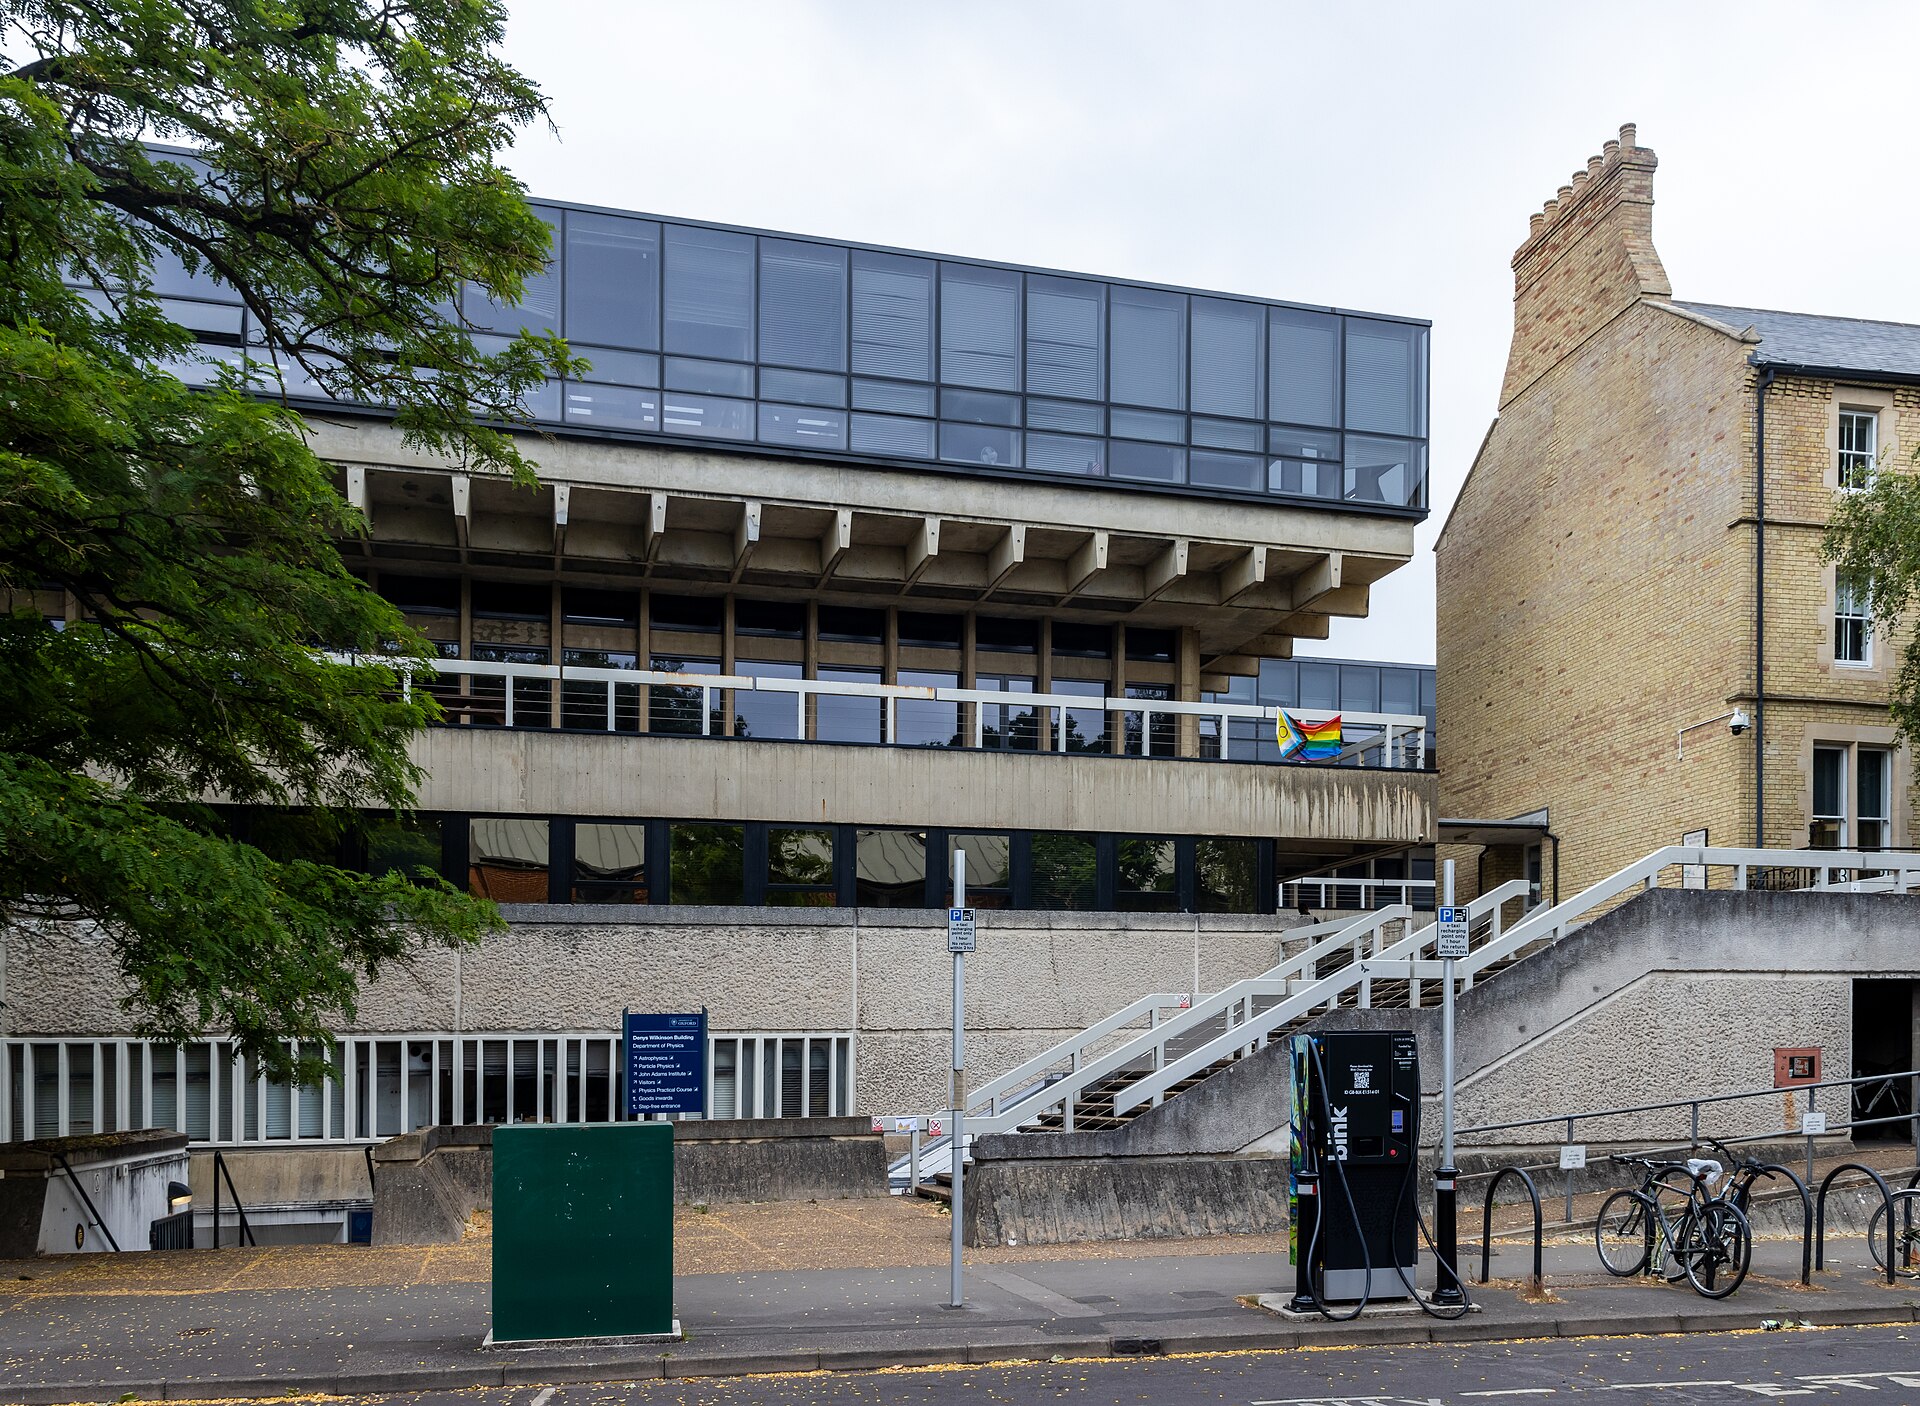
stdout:
<svg viewBox="0 0 1920 1406">
<path fill-rule="evenodd" d="M 816 699 L 874 699 L 879 703 L 877 716 L 874 720 L 874 736 L 852 736 L 852 738 L 831 738 L 831 741 L 864 741 L 864 743 L 900 743 L 899 709 L 900 703 L 950 703 L 954 705 L 954 732 L 968 738 L 968 745 L 985 747 L 987 745 L 987 713 L 989 709 L 1006 709 L 1014 713 L 1035 715 L 1035 738 L 1044 736 L 1052 751 L 1068 751 L 1071 738 L 1073 715 L 1104 713 L 1117 715 L 1119 726 L 1114 730 L 1114 743 L 1108 751 L 1142 755 L 1142 757 L 1175 757 L 1179 755 L 1177 728 L 1162 730 L 1156 738 L 1156 718 L 1181 718 L 1192 716 L 1202 722 L 1212 722 L 1212 734 L 1200 739 L 1202 755 L 1215 757 L 1219 761 L 1256 761 L 1258 751 L 1248 747 L 1246 757 L 1235 757 L 1233 724 L 1235 722 L 1254 722 L 1260 724 L 1265 734 L 1279 724 L 1281 709 L 1260 707 L 1252 703 L 1177 703 L 1171 699 L 1139 699 L 1139 697 L 1083 697 L 1079 693 L 1004 693 L 998 690 L 977 690 L 977 688 L 920 688 L 912 684 L 858 684 L 845 680 L 826 680 L 826 678 L 753 678 L 747 674 L 695 674 L 660 668 L 589 668 L 582 665 L 516 665 L 482 659 L 428 659 L 428 661 L 397 661 L 374 655 L 328 655 L 338 663 L 378 663 L 394 668 L 401 676 L 401 688 L 411 690 L 419 674 L 434 674 L 440 680 L 501 680 L 501 691 L 495 697 L 484 699 L 486 703 L 499 705 L 499 722 L 503 726 L 520 726 L 518 718 L 526 715 L 528 707 L 536 709 L 541 718 L 551 718 L 553 707 L 559 705 L 568 715 L 580 713 L 584 709 L 564 697 L 553 697 L 553 684 L 566 686 L 597 686 L 605 690 L 605 711 L 597 705 L 593 707 L 595 726 L 605 726 L 607 732 L 620 730 L 622 701 L 637 707 L 637 716 L 647 718 L 649 724 L 655 722 L 649 711 L 657 711 L 659 701 L 649 699 L 645 690 L 668 688 L 684 690 L 680 697 L 668 701 L 668 707 L 680 703 L 691 703 L 693 693 L 699 693 L 699 734 L 712 736 L 714 732 L 714 709 L 716 695 L 726 691 L 753 691 L 753 693 L 789 693 L 793 697 L 793 732 L 785 739 L 801 741 L 828 741 L 829 738 L 820 736 L 820 707 Z M 528 697 L 528 686 L 536 686 L 540 691 L 538 701 Z M 468 686 L 470 688 L 470 686 Z M 622 699 L 622 690 L 630 690 Z M 516 703 L 516 691 L 520 701 Z M 814 703 L 812 707 L 808 707 Z M 651 705 L 651 707 L 649 707 Z M 1342 709 L 1286 709 L 1300 722 L 1323 722 L 1331 716 L 1340 716 L 1342 734 L 1346 745 L 1338 759 L 1350 761 L 1354 764 L 1365 766 L 1390 766 L 1390 768 L 1425 768 L 1427 766 L 1427 718 L 1419 713 L 1359 713 Z M 538 724 L 545 726 L 545 722 Z M 1102 724 L 1104 728 L 1104 724 Z M 691 734 L 693 728 L 689 726 Z M 1131 753 L 1133 743 L 1139 741 L 1139 753 Z M 1369 763 L 1369 759 L 1373 759 Z"/>
</svg>

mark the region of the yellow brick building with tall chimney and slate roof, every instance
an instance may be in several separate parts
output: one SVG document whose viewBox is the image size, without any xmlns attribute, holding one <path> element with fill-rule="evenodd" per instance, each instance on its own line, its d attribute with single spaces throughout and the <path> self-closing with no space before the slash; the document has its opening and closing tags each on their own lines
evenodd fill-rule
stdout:
<svg viewBox="0 0 1920 1406">
<path fill-rule="evenodd" d="M 1571 897 L 1699 832 L 1912 843 L 1897 647 L 1818 547 L 1836 494 L 1920 444 L 1920 327 L 1676 300 L 1655 165 L 1622 127 L 1532 217 L 1434 547 L 1442 816 L 1534 820 L 1442 849 L 1465 893 L 1530 870 Z"/>
</svg>

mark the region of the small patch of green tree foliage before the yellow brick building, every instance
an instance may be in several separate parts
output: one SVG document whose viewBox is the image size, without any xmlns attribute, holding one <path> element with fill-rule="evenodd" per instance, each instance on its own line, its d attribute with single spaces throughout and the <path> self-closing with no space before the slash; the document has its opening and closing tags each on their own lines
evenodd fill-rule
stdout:
<svg viewBox="0 0 1920 1406">
<path fill-rule="evenodd" d="M 1914 459 L 1920 463 L 1920 453 Z M 1864 584 L 1878 636 L 1874 647 L 1889 657 L 1899 649 L 1893 726 L 1912 747 L 1920 743 L 1920 636 L 1905 624 L 1920 605 L 1920 474 L 1882 465 L 1870 488 L 1841 494 L 1820 551 L 1843 580 Z"/>
</svg>

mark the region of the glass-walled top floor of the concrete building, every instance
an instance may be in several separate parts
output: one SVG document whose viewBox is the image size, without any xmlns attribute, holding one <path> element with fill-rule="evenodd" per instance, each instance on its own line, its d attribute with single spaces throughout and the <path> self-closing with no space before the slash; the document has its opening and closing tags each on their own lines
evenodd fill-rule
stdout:
<svg viewBox="0 0 1920 1406">
<path fill-rule="evenodd" d="M 591 361 L 528 413 L 572 432 L 1427 507 L 1427 325 L 720 225 L 538 204 L 522 302 L 468 290 L 480 346 L 532 328 Z M 209 348 L 217 282 L 159 271 Z M 225 305 L 225 307 L 223 307 Z M 180 367 L 205 376 L 205 367 Z M 319 398 L 298 373 L 288 392 Z"/>
</svg>

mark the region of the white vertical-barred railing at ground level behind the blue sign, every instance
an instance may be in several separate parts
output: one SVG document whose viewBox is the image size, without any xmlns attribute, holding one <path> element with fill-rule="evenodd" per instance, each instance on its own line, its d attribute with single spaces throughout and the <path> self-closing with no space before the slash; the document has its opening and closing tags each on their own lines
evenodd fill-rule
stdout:
<svg viewBox="0 0 1920 1406">
<path fill-rule="evenodd" d="M 0 1143 L 173 1127 L 190 1145 L 372 1143 L 434 1124 L 614 1122 L 614 1031 L 413 1031 L 311 1045 L 328 1076 L 273 1079 L 228 1039 L 0 1039 Z M 852 1031 L 712 1031 L 708 1118 L 839 1116 Z"/>
</svg>

